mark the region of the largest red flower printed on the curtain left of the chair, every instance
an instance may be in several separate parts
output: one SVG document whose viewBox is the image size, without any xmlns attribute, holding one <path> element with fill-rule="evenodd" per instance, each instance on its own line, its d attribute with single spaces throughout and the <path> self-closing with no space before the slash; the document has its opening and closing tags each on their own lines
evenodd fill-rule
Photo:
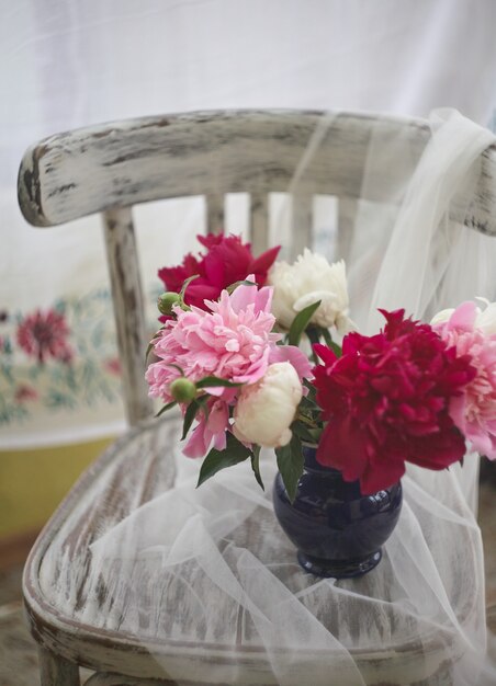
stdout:
<svg viewBox="0 0 496 686">
<path fill-rule="evenodd" d="M 36 310 L 19 324 L 16 340 L 20 347 L 36 357 L 40 364 L 44 364 L 47 357 L 69 363 L 74 355 L 67 342 L 69 333 L 64 315 L 56 310 L 46 313 Z"/>
</svg>

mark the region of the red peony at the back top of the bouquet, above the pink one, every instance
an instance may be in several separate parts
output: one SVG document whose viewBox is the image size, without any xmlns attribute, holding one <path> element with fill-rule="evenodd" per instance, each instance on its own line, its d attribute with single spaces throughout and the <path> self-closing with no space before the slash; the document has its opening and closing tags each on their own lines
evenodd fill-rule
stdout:
<svg viewBox="0 0 496 686">
<path fill-rule="evenodd" d="M 179 293 L 187 278 L 198 274 L 199 277 L 189 284 L 184 301 L 202 310 L 206 309 L 204 300 L 216 300 L 221 291 L 232 284 L 255 274 L 259 286 L 267 281 L 267 272 L 272 266 L 280 245 L 271 248 L 255 259 L 249 243 L 243 243 L 239 236 L 198 236 L 198 240 L 207 252 L 195 258 L 189 253 L 180 266 L 162 267 L 158 276 L 167 290 Z"/>
</svg>

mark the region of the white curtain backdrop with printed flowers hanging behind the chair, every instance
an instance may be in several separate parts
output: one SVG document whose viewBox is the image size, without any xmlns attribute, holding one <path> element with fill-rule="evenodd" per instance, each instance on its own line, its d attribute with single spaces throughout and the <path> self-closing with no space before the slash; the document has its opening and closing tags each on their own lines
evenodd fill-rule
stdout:
<svg viewBox="0 0 496 686">
<path fill-rule="evenodd" d="M 453 106 L 484 125 L 494 116 L 493 0 L 0 0 L 0 448 L 123 425 L 100 222 L 25 224 L 15 180 L 30 144 L 205 108 L 426 116 Z M 194 245 L 203 207 L 154 204 L 136 221 L 153 319 L 157 268 Z M 172 245 L 171 227 L 183 237 Z M 36 317 L 48 328 L 64 321 L 70 365 L 60 354 L 41 363 L 29 347 Z"/>
</svg>

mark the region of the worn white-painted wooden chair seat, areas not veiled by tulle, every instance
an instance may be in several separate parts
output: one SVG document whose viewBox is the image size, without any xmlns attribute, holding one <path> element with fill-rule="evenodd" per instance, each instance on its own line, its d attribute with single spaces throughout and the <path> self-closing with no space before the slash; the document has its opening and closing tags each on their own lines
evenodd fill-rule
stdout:
<svg viewBox="0 0 496 686">
<path fill-rule="evenodd" d="M 155 678 L 181 674 L 184 681 L 218 684 L 234 683 L 243 665 L 243 681 L 235 683 L 277 684 L 249 613 L 215 584 L 208 585 L 194 561 L 181 568 L 181 583 L 177 583 L 170 570 L 164 571 L 154 558 L 146 556 L 136 556 L 135 560 L 114 557 L 104 572 L 94 567 L 89 546 L 139 505 L 173 487 L 171 446 L 178 441 L 179 423 L 173 418 L 155 420 L 131 431 L 83 475 L 66 498 L 37 540 L 24 572 L 33 634 L 48 650 L 100 671 Z M 164 512 L 165 529 L 167 526 L 168 515 Z M 274 538 L 279 546 L 275 550 Z M 229 533 L 228 541 L 219 541 L 219 548 L 226 542 L 250 550 L 264 567 L 277 559 L 279 564 L 272 571 L 279 582 L 349 645 L 368 684 L 422 679 L 438 684 L 443 683 L 443 674 L 449 678 L 450 664 L 463 650 L 454 638 L 447 644 L 446 636 L 440 638 L 427 625 L 419 625 L 413 615 L 403 626 L 393 626 L 384 611 L 384 606 L 394 607 L 399 597 L 387 549 L 374 572 L 359 580 L 336 582 L 356 594 L 354 601 L 348 598 L 337 611 L 336 607 L 323 606 L 322 582 L 302 572 L 294 548 L 279 530 L 269 506 L 257 507 Z M 475 575 L 472 546 L 467 538 L 452 552 L 451 562 L 460 567 L 460 576 L 449 592 L 462 625 L 473 613 L 474 594 L 469 587 Z M 458 559 L 461 549 L 463 565 Z M 471 564 L 474 574 L 467 569 Z M 198 596 L 210 618 L 208 627 L 199 615 Z M 371 627 L 364 629 L 363 617 L 361 620 L 363 596 L 381 601 L 376 616 L 367 618 L 367 622 L 375 622 L 374 632 L 384 637 L 381 647 L 367 644 Z M 226 626 L 235 630 L 226 631 Z M 353 649 L 353 644 L 360 644 L 360 649 Z M 157 656 L 157 662 L 149 660 L 149 653 Z M 305 679 L 305 663 L 318 659 L 318 650 L 302 651 L 301 683 Z M 215 668 L 211 668 L 213 664 Z"/>
</svg>

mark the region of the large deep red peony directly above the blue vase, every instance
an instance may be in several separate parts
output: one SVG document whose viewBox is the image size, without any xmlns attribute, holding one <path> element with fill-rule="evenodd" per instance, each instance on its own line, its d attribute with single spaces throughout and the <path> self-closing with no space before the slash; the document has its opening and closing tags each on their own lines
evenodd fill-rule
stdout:
<svg viewBox="0 0 496 686">
<path fill-rule="evenodd" d="M 398 481 L 405 461 L 444 469 L 462 459 L 465 442 L 448 410 L 475 375 L 471 357 L 456 357 L 430 325 L 380 311 L 384 330 L 349 333 L 341 357 L 315 345 L 324 364 L 313 382 L 327 422 L 317 460 L 360 479 L 364 494 Z"/>
</svg>

